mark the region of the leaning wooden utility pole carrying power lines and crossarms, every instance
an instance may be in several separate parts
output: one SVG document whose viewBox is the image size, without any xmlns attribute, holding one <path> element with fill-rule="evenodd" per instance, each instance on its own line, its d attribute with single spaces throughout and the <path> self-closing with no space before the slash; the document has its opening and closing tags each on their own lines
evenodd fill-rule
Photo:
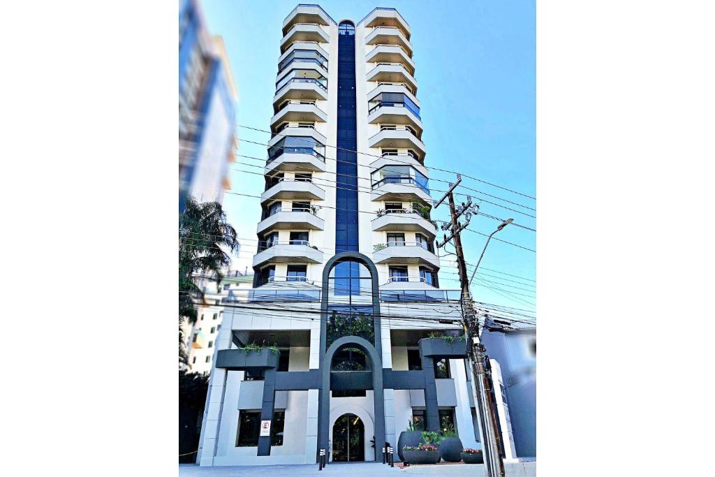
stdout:
<svg viewBox="0 0 715 477">
<path fill-rule="evenodd" d="M 464 326 L 465 338 L 467 338 L 467 356 L 472 370 L 472 393 L 476 403 L 477 413 L 480 422 L 480 434 L 482 436 L 482 453 L 485 463 L 486 477 L 504 477 L 504 463 L 499 451 L 499 437 L 496 432 L 496 422 L 492 411 L 491 396 L 487 393 L 486 376 L 484 370 L 484 347 L 479 340 L 479 325 L 476 320 L 472 296 L 469 292 L 469 277 L 467 275 L 467 263 L 464 260 L 462 250 L 462 240 L 460 233 L 469 225 L 472 215 L 472 200 L 468 197 L 468 203 L 462 205 L 460 210 L 454 203 L 453 191 L 462 177 L 457 174 L 457 182 L 450 184 L 449 190 L 443 197 L 435 202 L 435 209 L 449 199 L 451 223 L 446 227 L 450 231 L 450 236 L 445 234 L 443 242 L 437 243 L 437 247 L 444 247 L 450 240 L 454 241 L 457 254 L 457 267 L 459 270 L 459 280 L 462 285 L 462 325 Z M 465 215 L 465 225 L 461 225 L 459 217 Z M 443 229 L 445 226 L 443 225 Z"/>
</svg>

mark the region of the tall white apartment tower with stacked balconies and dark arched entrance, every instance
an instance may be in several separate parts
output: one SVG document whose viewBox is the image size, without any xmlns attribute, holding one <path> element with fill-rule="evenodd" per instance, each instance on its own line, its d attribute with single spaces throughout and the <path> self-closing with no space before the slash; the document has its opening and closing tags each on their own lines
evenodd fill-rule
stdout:
<svg viewBox="0 0 715 477">
<path fill-rule="evenodd" d="M 424 339 L 462 332 L 460 291 L 438 285 L 410 26 L 299 5 L 282 34 L 254 288 L 223 299 L 197 461 L 379 461 L 409 422 L 479 447 L 465 342 Z"/>
</svg>

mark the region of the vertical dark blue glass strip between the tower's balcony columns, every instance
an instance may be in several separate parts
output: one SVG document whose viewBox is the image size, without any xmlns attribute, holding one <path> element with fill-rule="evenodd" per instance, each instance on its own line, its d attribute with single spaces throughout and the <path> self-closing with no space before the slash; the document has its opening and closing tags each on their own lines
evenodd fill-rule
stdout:
<svg viewBox="0 0 715 477">
<path fill-rule="evenodd" d="M 337 162 L 335 253 L 358 251 L 358 124 L 355 96 L 355 25 L 344 21 L 337 36 Z"/>
</svg>

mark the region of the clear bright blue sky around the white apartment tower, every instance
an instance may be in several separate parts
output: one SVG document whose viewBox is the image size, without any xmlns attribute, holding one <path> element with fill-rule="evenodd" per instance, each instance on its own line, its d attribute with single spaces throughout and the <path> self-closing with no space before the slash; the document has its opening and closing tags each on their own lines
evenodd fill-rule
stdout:
<svg viewBox="0 0 715 477">
<path fill-rule="evenodd" d="M 275 93 L 277 58 L 283 19 L 300 2 L 285 0 L 203 0 L 209 31 L 223 36 L 239 92 L 237 124 L 269 129 Z M 420 115 L 427 147 L 425 165 L 478 177 L 536 197 L 536 5 L 534 1 L 404 1 L 375 4 L 368 1 L 316 2 L 336 21 L 357 23 L 375 6 L 393 6 L 412 29 L 415 77 L 419 82 Z M 265 147 L 245 142 L 267 142 L 270 134 L 237 129 L 239 154 L 266 157 Z M 241 141 L 243 140 L 243 141 Z M 260 195 L 263 180 L 237 169 L 260 172 L 245 164 L 259 164 L 241 157 L 232 164 L 232 192 Z M 455 180 L 445 172 L 431 170 L 430 177 Z M 463 185 L 536 209 L 536 201 L 490 185 L 465 179 Z M 430 188 L 445 190 L 443 182 Z M 472 193 L 462 190 L 461 192 Z M 433 197 L 441 197 L 433 192 Z M 473 193 L 474 196 L 479 196 Z M 482 196 L 507 207 L 536 215 L 533 210 Z M 458 197 L 465 200 L 465 197 Z M 260 220 L 258 200 L 227 194 L 224 200 L 229 219 L 240 237 L 255 239 Z M 511 210 L 481 204 L 481 211 L 495 217 L 513 217 L 515 222 L 536 229 L 536 220 Z M 447 219 L 448 208 L 440 207 L 435 218 Z M 499 222 L 476 217 L 470 229 L 489 234 Z M 509 225 L 495 237 L 536 250 L 536 233 Z M 463 233 L 468 262 L 475 264 L 486 237 Z M 452 250 L 450 246 L 449 250 Z M 255 242 L 245 242 L 242 257 L 255 252 Z M 448 258 L 443 259 L 443 264 Z M 242 269 L 250 260 L 240 260 Z M 480 272 L 493 270 L 536 280 L 536 253 L 492 240 Z M 440 270 L 440 286 L 458 288 L 455 268 Z M 478 275 L 479 277 L 480 275 Z M 475 299 L 487 303 L 533 309 L 536 290 L 528 285 L 481 277 L 505 292 L 475 286 Z M 504 276 L 525 284 L 534 282 Z M 475 280 L 476 282 L 476 280 Z M 496 285 L 499 283 L 500 285 Z M 519 290 L 519 289 L 525 290 Z M 521 295 L 520 295 L 521 294 Z M 524 296 L 527 295 L 527 296 Z"/>
</svg>

